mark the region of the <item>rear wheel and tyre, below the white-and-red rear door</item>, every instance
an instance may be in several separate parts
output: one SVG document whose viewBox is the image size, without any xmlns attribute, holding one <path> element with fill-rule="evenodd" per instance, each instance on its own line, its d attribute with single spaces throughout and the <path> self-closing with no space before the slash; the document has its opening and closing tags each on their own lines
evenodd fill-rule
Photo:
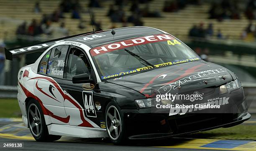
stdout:
<svg viewBox="0 0 256 151">
<path fill-rule="evenodd" d="M 61 136 L 49 134 L 43 111 L 35 99 L 29 100 L 27 104 L 27 117 L 28 127 L 36 141 L 56 141 L 61 138 Z"/>
</svg>

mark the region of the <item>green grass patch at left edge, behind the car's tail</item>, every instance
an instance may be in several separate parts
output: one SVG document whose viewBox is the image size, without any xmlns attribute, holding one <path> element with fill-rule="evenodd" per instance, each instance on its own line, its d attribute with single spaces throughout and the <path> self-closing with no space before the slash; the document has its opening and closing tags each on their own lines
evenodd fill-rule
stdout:
<svg viewBox="0 0 256 151">
<path fill-rule="evenodd" d="M 0 118 L 20 117 L 21 112 L 17 99 L 0 99 Z"/>
</svg>

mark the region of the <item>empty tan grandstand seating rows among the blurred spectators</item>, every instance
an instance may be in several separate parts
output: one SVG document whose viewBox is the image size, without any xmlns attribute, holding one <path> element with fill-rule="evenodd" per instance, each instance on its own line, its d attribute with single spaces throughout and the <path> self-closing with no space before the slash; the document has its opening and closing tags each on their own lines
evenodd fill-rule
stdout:
<svg viewBox="0 0 256 151">
<path fill-rule="evenodd" d="M 80 1 L 84 11 L 87 11 L 88 2 Z M 60 0 L 40 0 L 41 13 L 34 13 L 33 7 L 35 5 L 31 0 L 1 0 L 0 1 L 0 20 L 3 17 L 9 17 L 11 19 L 17 20 L 26 20 L 30 22 L 32 19 L 41 20 L 42 14 L 50 14 L 52 13 L 58 6 Z M 111 0 L 102 0 L 101 8 L 93 8 L 93 12 L 95 13 L 95 19 L 97 22 L 101 22 L 102 29 L 109 29 L 112 27 L 110 22 L 110 18 L 106 17 L 106 14 L 109 9 L 109 5 L 112 5 L 113 1 Z M 126 15 L 130 15 L 131 12 L 128 12 L 131 4 L 127 5 L 124 9 L 127 10 Z M 144 7 L 144 5 L 140 5 L 140 7 Z M 164 7 L 164 0 L 153 0 L 150 5 L 150 10 L 161 11 Z M 218 29 L 221 29 L 223 35 L 225 37 L 229 37 L 230 39 L 239 39 L 241 32 L 248 25 L 248 20 L 242 15 L 241 20 L 225 20 L 223 22 L 218 22 L 217 20 L 207 19 L 208 18 L 208 10 L 210 8 L 209 3 L 203 3 L 200 6 L 196 5 L 188 5 L 183 10 L 179 10 L 179 12 L 161 12 L 163 17 L 154 18 L 154 17 L 144 17 L 143 22 L 145 26 L 156 27 L 166 32 L 171 33 L 172 35 L 179 37 L 182 40 L 187 38 L 189 29 L 194 24 L 199 24 L 203 22 L 205 24 L 205 28 L 208 23 L 212 23 L 214 27 L 215 33 Z M 71 19 L 71 13 L 65 13 L 65 18 L 63 21 L 66 24 L 67 29 L 69 30 L 70 35 L 88 32 L 92 30 L 92 27 L 89 25 L 90 16 L 87 12 L 82 13 L 83 20 L 86 21 L 87 28 L 85 30 L 80 30 L 77 26 L 79 24 L 79 20 Z M 256 23 L 254 21 L 254 23 Z M 128 24 L 128 26 L 132 26 L 133 24 Z M 17 28 L 17 23 L 8 23 L 8 22 L 0 22 L 0 37 L 5 37 L 6 34 L 8 36 L 15 35 L 15 30 Z M 53 23 L 53 26 L 59 26 L 59 23 Z M 122 23 L 115 23 L 116 27 L 121 27 Z"/>
</svg>

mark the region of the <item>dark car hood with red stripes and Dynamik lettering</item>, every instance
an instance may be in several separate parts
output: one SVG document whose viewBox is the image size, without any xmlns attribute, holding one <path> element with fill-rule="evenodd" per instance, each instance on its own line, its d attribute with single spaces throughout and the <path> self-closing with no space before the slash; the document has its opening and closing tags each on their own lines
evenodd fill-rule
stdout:
<svg viewBox="0 0 256 151">
<path fill-rule="evenodd" d="M 188 62 L 127 75 L 108 82 L 134 89 L 146 97 L 175 94 L 230 82 L 234 75 L 225 67 L 204 61 Z"/>
</svg>

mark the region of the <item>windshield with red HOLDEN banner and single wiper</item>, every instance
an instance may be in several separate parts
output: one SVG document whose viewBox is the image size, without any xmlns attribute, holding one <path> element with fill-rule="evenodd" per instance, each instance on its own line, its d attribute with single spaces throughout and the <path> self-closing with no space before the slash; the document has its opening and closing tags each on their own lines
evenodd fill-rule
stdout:
<svg viewBox="0 0 256 151">
<path fill-rule="evenodd" d="M 158 67 L 200 60 L 195 52 L 171 35 L 138 37 L 90 50 L 102 81 Z"/>
</svg>

